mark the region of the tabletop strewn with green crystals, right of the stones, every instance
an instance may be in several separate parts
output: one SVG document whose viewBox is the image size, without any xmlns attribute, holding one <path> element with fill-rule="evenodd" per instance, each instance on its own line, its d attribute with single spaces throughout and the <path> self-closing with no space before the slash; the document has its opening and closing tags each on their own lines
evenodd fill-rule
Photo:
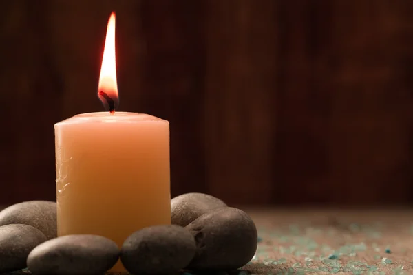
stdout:
<svg viewBox="0 0 413 275">
<path fill-rule="evenodd" d="M 413 274 L 413 210 L 246 212 L 259 231 L 248 273 Z"/>
</svg>

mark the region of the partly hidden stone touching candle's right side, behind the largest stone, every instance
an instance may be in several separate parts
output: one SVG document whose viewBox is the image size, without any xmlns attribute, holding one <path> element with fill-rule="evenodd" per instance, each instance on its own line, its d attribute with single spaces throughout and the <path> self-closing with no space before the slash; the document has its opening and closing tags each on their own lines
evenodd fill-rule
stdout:
<svg viewBox="0 0 413 275">
<path fill-rule="evenodd" d="M 207 212 L 226 207 L 224 201 L 202 193 L 187 193 L 171 199 L 172 224 L 187 226 Z"/>
</svg>

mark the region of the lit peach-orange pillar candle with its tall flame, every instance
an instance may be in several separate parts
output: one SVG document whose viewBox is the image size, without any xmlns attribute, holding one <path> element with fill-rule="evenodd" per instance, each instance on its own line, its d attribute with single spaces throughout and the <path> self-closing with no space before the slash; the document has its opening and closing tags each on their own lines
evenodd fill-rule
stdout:
<svg viewBox="0 0 413 275">
<path fill-rule="evenodd" d="M 118 245 L 131 233 L 171 223 L 169 122 L 118 112 L 115 14 L 107 26 L 98 97 L 107 112 L 54 125 L 57 230 L 98 234 Z M 113 271 L 123 271 L 118 263 Z"/>
</svg>

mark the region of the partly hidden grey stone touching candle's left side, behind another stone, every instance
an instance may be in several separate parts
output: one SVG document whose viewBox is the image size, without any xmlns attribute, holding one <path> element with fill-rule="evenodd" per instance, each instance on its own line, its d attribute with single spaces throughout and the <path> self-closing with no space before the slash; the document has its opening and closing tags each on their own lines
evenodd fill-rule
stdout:
<svg viewBox="0 0 413 275">
<path fill-rule="evenodd" d="M 0 225 L 21 223 L 39 229 L 47 239 L 56 238 L 56 203 L 52 201 L 25 201 L 0 212 Z"/>
</svg>

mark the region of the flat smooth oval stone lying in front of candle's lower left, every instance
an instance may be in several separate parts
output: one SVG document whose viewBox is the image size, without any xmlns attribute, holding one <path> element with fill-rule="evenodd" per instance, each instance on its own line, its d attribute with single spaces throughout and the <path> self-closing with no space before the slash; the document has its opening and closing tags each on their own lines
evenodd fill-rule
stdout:
<svg viewBox="0 0 413 275">
<path fill-rule="evenodd" d="M 46 241 L 28 256 L 32 274 L 103 274 L 119 259 L 114 241 L 96 235 L 68 235 Z"/>
</svg>

